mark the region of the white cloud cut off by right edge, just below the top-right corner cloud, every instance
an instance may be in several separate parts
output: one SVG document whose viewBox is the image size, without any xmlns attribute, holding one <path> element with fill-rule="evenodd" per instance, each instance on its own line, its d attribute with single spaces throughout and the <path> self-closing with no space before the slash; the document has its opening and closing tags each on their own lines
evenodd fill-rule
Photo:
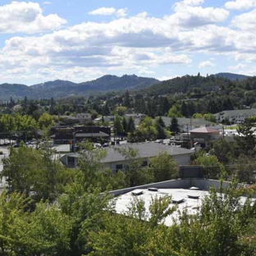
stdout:
<svg viewBox="0 0 256 256">
<path fill-rule="evenodd" d="M 235 16 L 231 24 L 241 30 L 255 30 L 256 29 L 256 9 L 247 13 Z"/>
</svg>

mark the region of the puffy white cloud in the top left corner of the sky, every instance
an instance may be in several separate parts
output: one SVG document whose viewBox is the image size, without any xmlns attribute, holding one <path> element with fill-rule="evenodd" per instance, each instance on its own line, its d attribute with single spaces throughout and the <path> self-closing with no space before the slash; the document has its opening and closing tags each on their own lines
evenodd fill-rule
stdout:
<svg viewBox="0 0 256 256">
<path fill-rule="evenodd" d="M 66 23 L 57 14 L 43 16 L 39 3 L 16 2 L 0 6 L 0 33 L 38 33 L 57 30 Z"/>
</svg>

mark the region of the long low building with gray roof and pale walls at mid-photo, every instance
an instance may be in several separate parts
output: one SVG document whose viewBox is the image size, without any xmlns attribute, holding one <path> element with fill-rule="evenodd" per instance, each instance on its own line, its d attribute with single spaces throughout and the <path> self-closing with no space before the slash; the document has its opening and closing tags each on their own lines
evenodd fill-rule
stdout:
<svg viewBox="0 0 256 256">
<path fill-rule="evenodd" d="M 149 159 L 158 156 L 158 153 L 168 153 L 179 165 L 190 164 L 190 156 L 193 153 L 189 149 L 182 149 L 176 146 L 168 146 L 164 144 L 157 144 L 153 142 L 144 142 L 136 144 L 120 144 L 114 145 L 107 149 L 107 155 L 101 160 L 104 168 L 110 168 L 112 171 L 122 170 L 129 162 L 122 150 L 135 149 L 138 151 L 138 158 L 142 159 L 143 166 L 149 164 Z M 66 154 L 61 158 L 61 161 L 67 167 L 77 167 L 78 159 L 81 157 L 80 153 Z"/>
</svg>

